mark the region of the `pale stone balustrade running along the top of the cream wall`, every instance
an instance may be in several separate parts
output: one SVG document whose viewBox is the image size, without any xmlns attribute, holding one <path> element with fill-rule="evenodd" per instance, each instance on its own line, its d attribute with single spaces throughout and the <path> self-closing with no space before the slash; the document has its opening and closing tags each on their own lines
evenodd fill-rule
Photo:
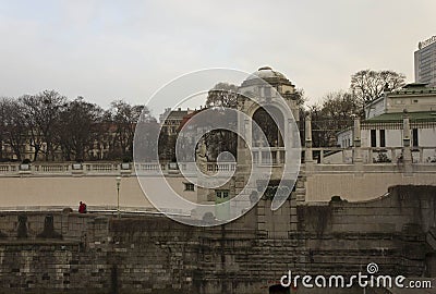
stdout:
<svg viewBox="0 0 436 294">
<path fill-rule="evenodd" d="M 313 164 L 353 164 L 353 147 L 339 148 L 311 148 Z M 302 148 L 302 162 L 307 158 L 307 148 Z M 364 164 L 399 164 L 403 160 L 402 147 L 362 147 L 360 148 L 362 162 Z M 411 147 L 412 164 L 436 167 L 436 147 Z M 252 148 L 252 160 L 256 166 L 280 167 L 286 161 L 283 147 Z M 235 162 L 207 162 L 206 172 L 214 174 L 223 172 L 233 173 L 237 170 Z M 180 171 L 195 173 L 195 166 L 174 162 L 135 162 L 134 164 L 120 162 L 32 162 L 21 164 L 17 162 L 0 163 L 0 176 L 9 175 L 98 175 L 98 174 L 179 174 Z"/>
</svg>

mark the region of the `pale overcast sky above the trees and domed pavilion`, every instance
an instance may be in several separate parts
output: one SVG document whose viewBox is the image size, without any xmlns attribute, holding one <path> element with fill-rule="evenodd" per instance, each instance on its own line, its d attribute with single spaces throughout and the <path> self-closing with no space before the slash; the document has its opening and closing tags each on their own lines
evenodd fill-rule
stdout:
<svg viewBox="0 0 436 294">
<path fill-rule="evenodd" d="M 269 65 L 316 101 L 363 69 L 413 82 L 435 12 L 435 0 L 0 0 L 0 96 L 145 103 L 191 71 Z"/>
</svg>

